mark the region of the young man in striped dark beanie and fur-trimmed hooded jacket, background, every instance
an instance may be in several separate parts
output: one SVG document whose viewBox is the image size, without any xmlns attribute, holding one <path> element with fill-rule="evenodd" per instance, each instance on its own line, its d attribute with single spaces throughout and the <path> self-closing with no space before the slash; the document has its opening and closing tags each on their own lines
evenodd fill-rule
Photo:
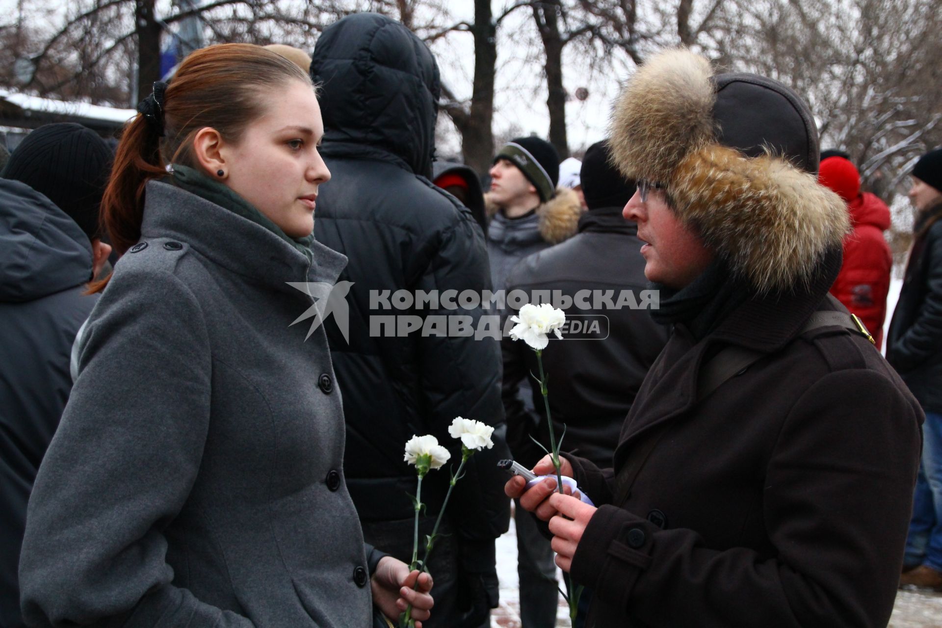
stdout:
<svg viewBox="0 0 942 628">
<path fill-rule="evenodd" d="M 503 290 L 520 260 L 576 234 L 582 207 L 572 188 L 558 186 L 560 156 L 539 137 L 502 146 L 489 174 L 487 252 L 494 289 Z"/>
</svg>

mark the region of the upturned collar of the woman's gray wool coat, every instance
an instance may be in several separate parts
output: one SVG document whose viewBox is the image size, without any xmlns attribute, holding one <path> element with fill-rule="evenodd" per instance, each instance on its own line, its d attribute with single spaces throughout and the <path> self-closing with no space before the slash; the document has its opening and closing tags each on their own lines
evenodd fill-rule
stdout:
<svg viewBox="0 0 942 628">
<path fill-rule="evenodd" d="M 214 202 L 174 185 L 147 184 L 141 240 L 171 238 L 185 242 L 204 257 L 239 275 L 284 292 L 286 282 L 335 283 L 347 257 L 311 242 L 313 259 L 283 238 Z"/>
</svg>

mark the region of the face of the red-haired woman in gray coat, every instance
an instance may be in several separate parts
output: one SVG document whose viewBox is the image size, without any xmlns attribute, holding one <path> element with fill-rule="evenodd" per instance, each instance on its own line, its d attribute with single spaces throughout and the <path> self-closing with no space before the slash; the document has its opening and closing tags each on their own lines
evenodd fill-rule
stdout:
<svg viewBox="0 0 942 628">
<path fill-rule="evenodd" d="M 317 187 L 331 178 L 317 153 L 324 122 L 314 89 L 291 81 L 263 95 L 267 110 L 237 144 L 223 143 L 223 183 L 252 203 L 289 237 L 314 231 Z M 215 173 L 211 173 L 215 175 Z"/>
</svg>

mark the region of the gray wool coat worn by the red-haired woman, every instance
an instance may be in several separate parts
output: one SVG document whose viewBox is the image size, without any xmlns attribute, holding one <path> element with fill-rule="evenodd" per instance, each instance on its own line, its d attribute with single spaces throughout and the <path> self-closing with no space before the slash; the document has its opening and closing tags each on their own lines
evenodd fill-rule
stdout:
<svg viewBox="0 0 942 628">
<path fill-rule="evenodd" d="M 370 625 L 363 536 L 322 329 L 291 326 L 347 258 L 314 262 L 177 187 L 89 319 L 29 501 L 31 625 Z"/>
</svg>

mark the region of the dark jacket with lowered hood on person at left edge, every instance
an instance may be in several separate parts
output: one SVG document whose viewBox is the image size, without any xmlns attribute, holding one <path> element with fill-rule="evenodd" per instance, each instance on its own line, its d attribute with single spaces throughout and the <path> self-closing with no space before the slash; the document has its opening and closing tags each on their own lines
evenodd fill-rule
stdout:
<svg viewBox="0 0 942 628">
<path fill-rule="evenodd" d="M 98 296 L 91 245 L 28 185 L 0 179 L 0 625 L 20 616 L 17 565 L 26 501 L 69 400 L 69 357 Z"/>
</svg>

